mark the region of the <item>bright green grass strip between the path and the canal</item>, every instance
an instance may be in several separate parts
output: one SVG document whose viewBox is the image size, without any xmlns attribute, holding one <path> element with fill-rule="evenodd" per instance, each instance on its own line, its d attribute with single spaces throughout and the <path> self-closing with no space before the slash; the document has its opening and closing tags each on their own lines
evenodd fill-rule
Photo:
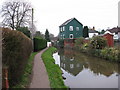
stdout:
<svg viewBox="0 0 120 90">
<path fill-rule="evenodd" d="M 67 88 L 62 79 L 62 71 L 55 63 L 52 55 L 56 48 L 50 47 L 42 54 L 42 59 L 46 66 L 51 88 Z"/>
</svg>

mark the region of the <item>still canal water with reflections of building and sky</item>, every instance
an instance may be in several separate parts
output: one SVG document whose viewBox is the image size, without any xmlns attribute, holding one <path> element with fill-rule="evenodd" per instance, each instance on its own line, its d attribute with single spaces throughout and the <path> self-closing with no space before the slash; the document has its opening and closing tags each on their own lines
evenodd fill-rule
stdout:
<svg viewBox="0 0 120 90">
<path fill-rule="evenodd" d="M 53 54 L 70 88 L 118 88 L 118 64 L 70 49 Z"/>
</svg>

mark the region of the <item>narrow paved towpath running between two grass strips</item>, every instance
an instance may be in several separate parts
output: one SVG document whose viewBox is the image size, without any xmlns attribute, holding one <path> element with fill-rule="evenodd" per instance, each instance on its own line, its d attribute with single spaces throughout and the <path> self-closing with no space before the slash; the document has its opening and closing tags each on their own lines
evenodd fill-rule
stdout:
<svg viewBox="0 0 120 90">
<path fill-rule="evenodd" d="M 34 58 L 33 76 L 29 88 L 50 88 L 46 67 L 41 58 L 46 49 L 40 51 Z"/>
</svg>

